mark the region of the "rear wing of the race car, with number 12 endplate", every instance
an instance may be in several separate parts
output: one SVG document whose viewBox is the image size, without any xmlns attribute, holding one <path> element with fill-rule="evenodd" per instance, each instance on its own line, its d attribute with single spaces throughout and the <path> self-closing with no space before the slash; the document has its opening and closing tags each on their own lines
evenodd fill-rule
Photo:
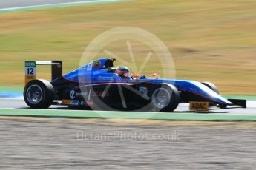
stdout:
<svg viewBox="0 0 256 170">
<path fill-rule="evenodd" d="M 25 61 L 25 84 L 36 79 L 36 65 L 51 65 L 51 80 L 62 76 L 62 61 Z"/>
</svg>

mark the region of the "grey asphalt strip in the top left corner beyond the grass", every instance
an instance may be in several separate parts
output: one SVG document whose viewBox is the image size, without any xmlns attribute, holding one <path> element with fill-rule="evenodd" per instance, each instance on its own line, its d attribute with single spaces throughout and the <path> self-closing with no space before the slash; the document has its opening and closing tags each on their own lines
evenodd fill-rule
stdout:
<svg viewBox="0 0 256 170">
<path fill-rule="evenodd" d="M 99 0 L 7 0 L 0 1 L 0 9 L 13 8 L 13 7 L 30 7 L 38 5 L 48 4 L 62 4 L 62 3 L 73 3 L 73 2 L 84 2 L 84 1 L 99 1 Z"/>
</svg>

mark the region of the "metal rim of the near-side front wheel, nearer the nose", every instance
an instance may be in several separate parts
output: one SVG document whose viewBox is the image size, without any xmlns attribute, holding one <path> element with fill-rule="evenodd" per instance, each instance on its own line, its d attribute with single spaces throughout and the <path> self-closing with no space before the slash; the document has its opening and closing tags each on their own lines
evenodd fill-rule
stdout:
<svg viewBox="0 0 256 170">
<path fill-rule="evenodd" d="M 170 92 L 167 89 L 156 89 L 152 95 L 152 102 L 158 109 L 165 108 L 171 101 Z"/>
</svg>

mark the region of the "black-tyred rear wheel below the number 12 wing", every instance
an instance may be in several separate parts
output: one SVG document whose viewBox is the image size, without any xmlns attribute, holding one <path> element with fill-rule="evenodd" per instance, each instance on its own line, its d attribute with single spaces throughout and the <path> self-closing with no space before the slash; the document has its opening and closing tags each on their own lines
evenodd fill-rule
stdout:
<svg viewBox="0 0 256 170">
<path fill-rule="evenodd" d="M 47 109 L 54 100 L 53 85 L 45 80 L 30 81 L 24 88 L 24 101 L 33 109 Z"/>
</svg>

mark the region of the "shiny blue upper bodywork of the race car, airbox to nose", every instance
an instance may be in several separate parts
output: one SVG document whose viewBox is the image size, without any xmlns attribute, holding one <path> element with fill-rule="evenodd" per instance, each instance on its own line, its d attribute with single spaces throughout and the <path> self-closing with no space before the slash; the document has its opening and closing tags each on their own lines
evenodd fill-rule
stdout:
<svg viewBox="0 0 256 170">
<path fill-rule="evenodd" d="M 232 105 L 231 102 L 209 89 L 207 86 L 201 84 L 198 81 L 188 80 L 173 80 L 173 79 L 122 79 L 115 72 L 109 72 L 109 66 L 106 65 L 108 59 L 99 59 L 86 64 L 79 69 L 73 70 L 63 78 L 67 81 L 73 81 L 82 84 L 108 84 L 108 83 L 124 83 L 124 84 L 136 84 L 136 83 L 148 83 L 148 84 L 172 84 L 182 92 L 189 92 L 191 95 L 199 95 L 206 98 L 208 101 L 223 103 L 226 105 Z M 113 67 L 113 66 L 112 66 Z"/>
</svg>

